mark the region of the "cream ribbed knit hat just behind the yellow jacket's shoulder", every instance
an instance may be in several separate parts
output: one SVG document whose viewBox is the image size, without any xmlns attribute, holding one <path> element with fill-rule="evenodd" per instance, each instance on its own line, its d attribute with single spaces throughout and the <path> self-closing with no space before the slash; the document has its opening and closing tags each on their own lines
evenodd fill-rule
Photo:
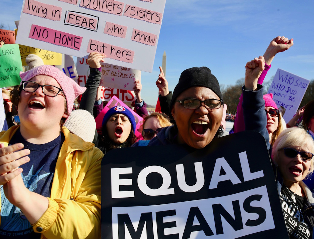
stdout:
<svg viewBox="0 0 314 239">
<path fill-rule="evenodd" d="M 87 142 L 93 142 L 96 130 L 94 117 L 84 109 L 75 109 L 71 112 L 64 126 L 68 130 Z"/>
</svg>

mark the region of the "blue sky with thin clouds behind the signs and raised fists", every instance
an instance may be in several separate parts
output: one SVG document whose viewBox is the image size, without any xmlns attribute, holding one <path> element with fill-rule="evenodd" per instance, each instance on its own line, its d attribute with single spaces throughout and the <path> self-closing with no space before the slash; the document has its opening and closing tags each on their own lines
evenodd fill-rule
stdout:
<svg viewBox="0 0 314 239">
<path fill-rule="evenodd" d="M 0 5 L 0 23 L 13 30 L 23 0 L 0 0 Z M 246 62 L 263 55 L 278 35 L 293 38 L 294 45 L 275 57 L 265 81 L 277 68 L 314 79 L 313 11 L 314 2 L 308 0 L 167 0 L 153 72 L 142 72 L 142 98 L 156 104 L 164 51 L 171 91 L 181 72 L 193 66 L 207 66 L 227 86 L 244 77 Z"/>
</svg>

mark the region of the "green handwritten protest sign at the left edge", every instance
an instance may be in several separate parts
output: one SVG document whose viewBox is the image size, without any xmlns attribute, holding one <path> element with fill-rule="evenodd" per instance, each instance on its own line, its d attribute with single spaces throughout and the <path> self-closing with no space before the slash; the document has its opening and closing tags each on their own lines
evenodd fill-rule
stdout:
<svg viewBox="0 0 314 239">
<path fill-rule="evenodd" d="M 19 72 L 23 71 L 18 44 L 5 44 L 0 48 L 0 88 L 19 85 Z"/>
</svg>

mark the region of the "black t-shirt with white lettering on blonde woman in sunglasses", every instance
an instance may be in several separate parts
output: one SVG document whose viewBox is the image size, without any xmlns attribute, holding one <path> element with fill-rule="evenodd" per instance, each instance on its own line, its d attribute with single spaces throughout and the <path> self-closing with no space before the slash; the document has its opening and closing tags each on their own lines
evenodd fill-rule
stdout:
<svg viewBox="0 0 314 239">
<path fill-rule="evenodd" d="M 313 209 L 306 210 L 306 197 L 294 194 L 293 200 L 293 194 L 294 192 L 283 185 L 280 200 L 289 237 L 310 239 L 313 231 Z"/>
</svg>

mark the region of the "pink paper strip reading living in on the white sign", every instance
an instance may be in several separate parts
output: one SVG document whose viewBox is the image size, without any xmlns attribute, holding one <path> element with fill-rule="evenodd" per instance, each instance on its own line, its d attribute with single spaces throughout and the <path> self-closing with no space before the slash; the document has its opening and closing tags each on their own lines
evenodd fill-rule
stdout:
<svg viewBox="0 0 314 239">
<path fill-rule="evenodd" d="M 62 8 L 50 4 L 40 3 L 35 0 L 25 1 L 23 13 L 37 17 L 60 21 Z"/>
</svg>

